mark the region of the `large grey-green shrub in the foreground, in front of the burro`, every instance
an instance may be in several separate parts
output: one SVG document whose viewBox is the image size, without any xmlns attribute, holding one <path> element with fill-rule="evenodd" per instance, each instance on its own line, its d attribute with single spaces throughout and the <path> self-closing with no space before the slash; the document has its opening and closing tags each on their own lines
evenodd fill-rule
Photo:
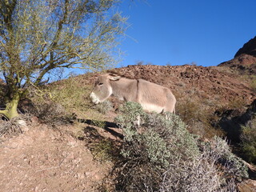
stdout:
<svg viewBox="0 0 256 192">
<path fill-rule="evenodd" d="M 235 191 L 235 182 L 247 177 L 225 141 L 198 142 L 177 115 L 145 114 L 132 102 L 120 113 L 116 119 L 125 140 L 116 166 L 117 191 Z M 138 114 L 140 133 L 133 123 Z"/>
</svg>

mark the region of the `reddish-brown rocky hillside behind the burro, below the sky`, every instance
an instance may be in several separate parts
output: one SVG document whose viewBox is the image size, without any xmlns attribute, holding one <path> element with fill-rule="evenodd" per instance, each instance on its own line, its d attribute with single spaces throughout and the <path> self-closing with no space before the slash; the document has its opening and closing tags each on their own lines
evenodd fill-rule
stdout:
<svg viewBox="0 0 256 192">
<path fill-rule="evenodd" d="M 254 46 L 250 47 L 254 49 Z M 109 72 L 122 74 L 127 78 L 143 78 L 170 88 L 178 100 L 177 114 L 190 127 L 194 127 L 191 128 L 192 132 L 202 137 L 210 137 L 216 133 L 212 133 L 213 130 L 202 131 L 198 127 L 215 127 L 218 130 L 222 126 L 218 122 L 227 110 L 235 110 L 230 118 L 242 115 L 256 98 L 256 58 L 250 54 L 239 54 L 218 66 L 134 65 Z M 76 81 L 83 86 L 92 86 L 97 75 L 80 75 L 76 77 Z M 118 107 L 118 101 L 114 98 L 111 101 Z"/>
</svg>

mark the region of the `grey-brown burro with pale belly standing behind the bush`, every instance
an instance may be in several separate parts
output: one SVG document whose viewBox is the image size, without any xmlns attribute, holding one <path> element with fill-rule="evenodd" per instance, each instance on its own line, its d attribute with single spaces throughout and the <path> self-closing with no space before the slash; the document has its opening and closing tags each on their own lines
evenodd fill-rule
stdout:
<svg viewBox="0 0 256 192">
<path fill-rule="evenodd" d="M 170 89 L 143 79 L 124 78 L 118 74 L 99 75 L 90 94 L 91 101 L 98 104 L 111 95 L 125 102 L 138 102 L 147 112 L 175 113 L 176 98 Z"/>
</svg>

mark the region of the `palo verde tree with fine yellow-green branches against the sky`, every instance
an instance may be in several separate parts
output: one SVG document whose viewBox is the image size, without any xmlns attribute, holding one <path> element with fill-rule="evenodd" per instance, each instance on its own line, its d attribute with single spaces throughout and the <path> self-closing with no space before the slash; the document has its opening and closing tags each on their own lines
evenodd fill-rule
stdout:
<svg viewBox="0 0 256 192">
<path fill-rule="evenodd" d="M 30 85 L 54 70 L 98 69 L 115 61 L 126 18 L 117 0 L 0 0 L 0 78 L 6 118 Z"/>
</svg>

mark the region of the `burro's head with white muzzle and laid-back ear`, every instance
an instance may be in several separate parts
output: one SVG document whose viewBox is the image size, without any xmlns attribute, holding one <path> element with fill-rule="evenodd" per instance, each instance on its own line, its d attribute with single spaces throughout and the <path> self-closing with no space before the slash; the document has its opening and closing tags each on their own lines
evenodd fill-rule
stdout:
<svg viewBox="0 0 256 192">
<path fill-rule="evenodd" d="M 110 82 L 117 81 L 119 78 L 121 77 L 116 74 L 102 74 L 98 76 L 94 90 L 90 94 L 91 101 L 98 104 L 109 98 L 110 95 L 113 94 L 113 88 Z"/>
</svg>

